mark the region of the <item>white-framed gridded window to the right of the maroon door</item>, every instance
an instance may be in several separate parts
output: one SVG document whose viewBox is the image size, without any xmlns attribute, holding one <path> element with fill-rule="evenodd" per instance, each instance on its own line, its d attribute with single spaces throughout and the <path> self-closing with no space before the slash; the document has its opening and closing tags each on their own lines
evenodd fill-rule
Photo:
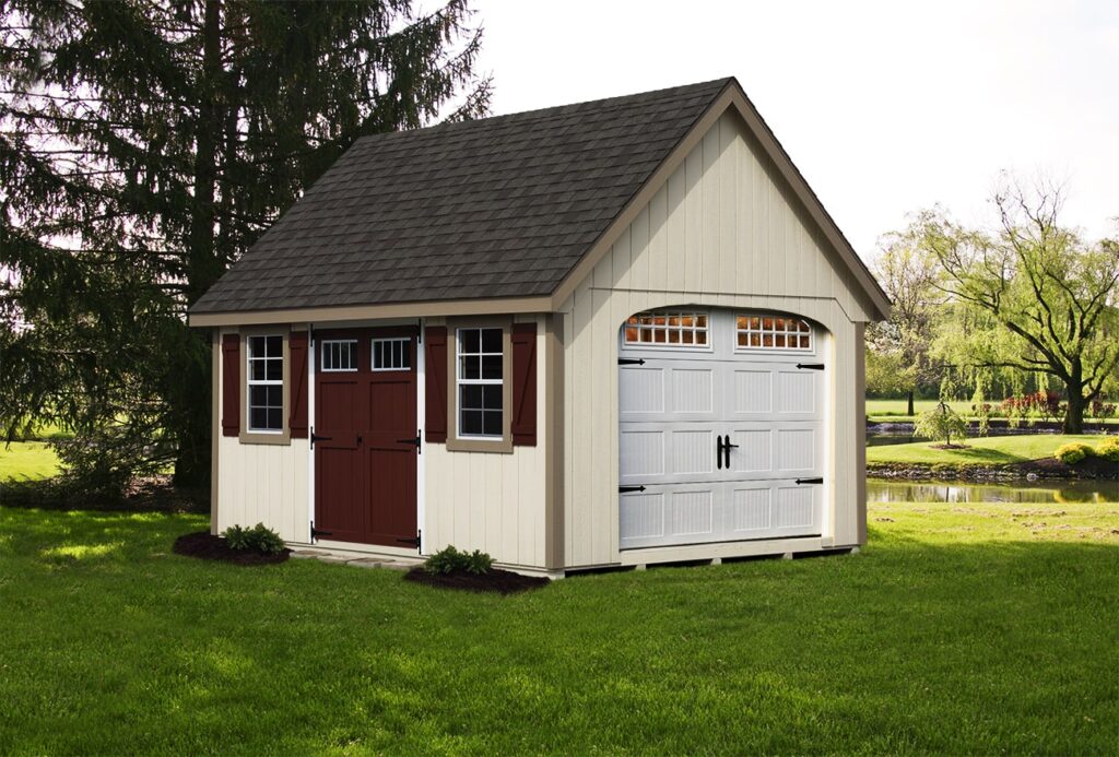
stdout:
<svg viewBox="0 0 1119 757">
<path fill-rule="evenodd" d="M 459 329 L 457 377 L 459 436 L 504 436 L 505 339 L 500 328 Z"/>
</svg>

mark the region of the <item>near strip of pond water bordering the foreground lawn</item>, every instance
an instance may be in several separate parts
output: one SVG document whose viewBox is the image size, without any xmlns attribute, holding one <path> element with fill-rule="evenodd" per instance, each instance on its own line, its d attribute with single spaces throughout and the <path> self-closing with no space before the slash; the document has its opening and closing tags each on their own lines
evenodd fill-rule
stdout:
<svg viewBox="0 0 1119 757">
<path fill-rule="evenodd" d="M 1019 481 L 1014 484 L 867 479 L 869 502 L 1119 502 L 1119 481 Z"/>
</svg>

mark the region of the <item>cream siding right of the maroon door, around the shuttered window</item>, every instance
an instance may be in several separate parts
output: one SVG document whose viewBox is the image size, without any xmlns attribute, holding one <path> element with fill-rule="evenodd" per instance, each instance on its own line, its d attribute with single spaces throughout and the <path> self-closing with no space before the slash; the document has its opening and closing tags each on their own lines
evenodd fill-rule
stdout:
<svg viewBox="0 0 1119 757">
<path fill-rule="evenodd" d="M 545 394 L 547 370 L 545 319 L 518 315 L 536 323 L 536 446 L 514 446 L 511 453 L 449 452 L 445 444 L 425 444 L 426 511 L 424 552 L 448 545 L 480 549 L 502 565 L 545 568 Z M 430 319 L 429 324 L 442 323 Z M 454 349 L 449 330 L 446 346 Z M 449 397 L 449 403 L 454 398 Z"/>
</svg>

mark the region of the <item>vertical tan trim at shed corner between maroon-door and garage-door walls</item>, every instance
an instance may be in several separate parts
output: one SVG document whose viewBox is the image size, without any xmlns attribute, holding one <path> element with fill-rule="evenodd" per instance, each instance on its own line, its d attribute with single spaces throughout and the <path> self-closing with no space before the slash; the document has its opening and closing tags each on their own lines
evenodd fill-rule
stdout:
<svg viewBox="0 0 1119 757">
<path fill-rule="evenodd" d="M 544 316 L 544 565 L 564 568 L 563 315 Z"/>
</svg>

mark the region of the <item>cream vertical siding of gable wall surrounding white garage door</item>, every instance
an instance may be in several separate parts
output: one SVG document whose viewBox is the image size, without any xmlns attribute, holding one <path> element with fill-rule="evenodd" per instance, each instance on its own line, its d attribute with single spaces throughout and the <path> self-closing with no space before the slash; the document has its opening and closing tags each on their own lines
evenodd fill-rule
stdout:
<svg viewBox="0 0 1119 757">
<path fill-rule="evenodd" d="M 857 543 L 862 399 L 854 362 L 858 324 L 873 310 L 781 182 L 737 114 L 727 112 L 561 306 L 566 567 L 621 561 L 619 328 L 633 313 L 673 305 L 796 313 L 830 332 L 822 357 L 836 433 L 828 435 L 826 477 L 835 485 L 825 500 L 824 539 L 816 541 Z M 689 548 L 676 553 L 697 556 Z"/>
</svg>

